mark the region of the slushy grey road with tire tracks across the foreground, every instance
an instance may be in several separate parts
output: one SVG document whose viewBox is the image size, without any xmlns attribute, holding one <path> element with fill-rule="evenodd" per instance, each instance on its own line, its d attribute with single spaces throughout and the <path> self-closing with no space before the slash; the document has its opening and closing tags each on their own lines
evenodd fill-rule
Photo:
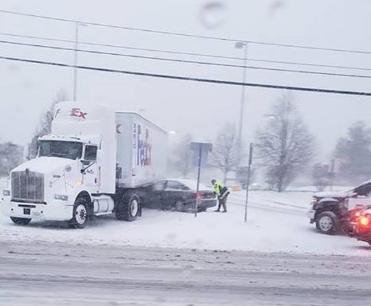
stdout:
<svg viewBox="0 0 371 306">
<path fill-rule="evenodd" d="M 370 305 L 371 259 L 91 246 L 0 250 L 0 305 Z"/>
</svg>

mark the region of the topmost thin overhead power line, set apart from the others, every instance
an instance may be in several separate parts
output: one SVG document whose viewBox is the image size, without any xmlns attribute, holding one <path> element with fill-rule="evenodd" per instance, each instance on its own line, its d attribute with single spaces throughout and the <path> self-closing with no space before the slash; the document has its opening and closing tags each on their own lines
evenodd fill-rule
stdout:
<svg viewBox="0 0 371 306">
<path fill-rule="evenodd" d="M 305 45 L 267 43 L 267 42 L 262 42 L 262 41 L 257 41 L 257 40 L 233 39 L 233 38 L 203 36 L 203 35 L 196 35 L 196 34 L 170 32 L 170 31 L 149 30 L 149 29 L 142 29 L 142 28 L 139 28 L 139 27 L 125 27 L 125 26 L 122 26 L 122 25 L 111 25 L 111 24 L 108 24 L 108 23 L 93 23 L 93 22 L 90 22 L 90 21 L 57 18 L 57 17 L 45 16 L 45 15 L 39 15 L 39 14 L 14 12 L 14 11 L 10 11 L 10 10 L 0 10 L 0 12 L 5 13 L 5 14 L 14 14 L 14 15 L 19 15 L 19 16 L 34 17 L 34 18 L 38 18 L 38 19 L 65 21 L 65 22 L 69 22 L 69 23 L 83 23 L 83 24 L 86 24 L 86 25 L 95 25 L 95 26 L 98 26 L 98 27 L 111 27 L 111 28 L 115 28 L 115 29 L 131 30 L 131 31 L 137 31 L 137 32 L 147 32 L 147 33 L 152 33 L 152 34 L 183 36 L 183 37 L 188 37 L 188 38 L 200 38 L 200 39 L 208 39 L 208 40 L 222 40 L 222 41 L 229 41 L 229 42 L 243 41 L 245 43 L 254 44 L 254 45 L 269 45 L 269 46 L 274 46 L 274 47 L 289 47 L 289 48 L 312 49 L 312 50 L 321 50 L 321 51 L 337 51 L 337 52 L 346 52 L 346 53 L 355 53 L 355 54 L 371 54 L 371 51 L 354 50 L 354 49 L 339 49 L 339 48 L 326 48 L 326 47 L 312 47 L 312 46 L 305 46 Z"/>
</svg>

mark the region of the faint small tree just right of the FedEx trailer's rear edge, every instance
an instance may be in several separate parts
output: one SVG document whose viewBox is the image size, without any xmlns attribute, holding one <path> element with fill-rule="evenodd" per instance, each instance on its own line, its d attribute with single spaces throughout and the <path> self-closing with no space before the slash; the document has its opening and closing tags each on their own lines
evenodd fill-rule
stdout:
<svg viewBox="0 0 371 306">
<path fill-rule="evenodd" d="M 192 170 L 192 150 L 190 149 L 190 143 L 192 141 L 192 135 L 186 134 L 175 144 L 172 149 L 170 165 L 175 170 L 181 173 L 181 176 L 187 177 Z"/>
</svg>

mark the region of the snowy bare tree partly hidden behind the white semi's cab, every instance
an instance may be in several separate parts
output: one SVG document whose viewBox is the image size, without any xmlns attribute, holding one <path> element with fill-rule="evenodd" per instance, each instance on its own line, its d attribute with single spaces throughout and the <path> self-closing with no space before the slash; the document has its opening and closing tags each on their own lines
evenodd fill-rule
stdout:
<svg viewBox="0 0 371 306">
<path fill-rule="evenodd" d="M 52 120 L 53 120 L 53 110 L 54 106 L 58 102 L 66 101 L 68 99 L 68 95 L 65 91 L 59 91 L 56 96 L 54 97 L 52 103 L 49 105 L 49 108 L 45 111 L 45 113 L 40 117 L 40 121 L 38 123 L 38 127 L 34 133 L 34 137 L 32 137 L 29 149 L 28 149 L 28 158 L 34 158 L 37 154 L 37 139 L 43 135 L 49 134 L 52 128 Z"/>
</svg>

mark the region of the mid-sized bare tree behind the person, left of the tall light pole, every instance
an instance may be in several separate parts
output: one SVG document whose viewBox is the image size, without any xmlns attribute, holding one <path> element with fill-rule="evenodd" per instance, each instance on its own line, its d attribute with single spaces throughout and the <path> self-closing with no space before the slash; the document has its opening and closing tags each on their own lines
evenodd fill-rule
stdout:
<svg viewBox="0 0 371 306">
<path fill-rule="evenodd" d="M 227 123 L 216 136 L 212 151 L 212 162 L 210 163 L 213 167 L 221 169 L 224 184 L 229 172 L 236 170 L 238 158 L 243 159 L 244 156 L 243 145 L 238 152 L 236 127 L 232 123 Z"/>
</svg>

